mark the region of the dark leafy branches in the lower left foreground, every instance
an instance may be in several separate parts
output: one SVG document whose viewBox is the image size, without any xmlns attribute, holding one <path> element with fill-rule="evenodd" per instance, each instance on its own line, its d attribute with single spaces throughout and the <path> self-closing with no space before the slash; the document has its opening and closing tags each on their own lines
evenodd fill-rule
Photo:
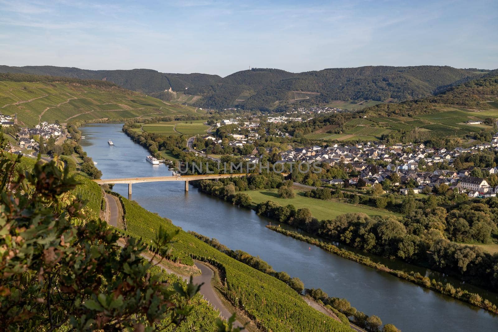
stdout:
<svg viewBox="0 0 498 332">
<path fill-rule="evenodd" d="M 172 330 L 186 320 L 200 286 L 151 275 L 144 246 L 121 247 L 104 221 L 87 220 L 84 202 L 67 196 L 78 185 L 67 169 L 22 172 L 20 157 L 0 153 L 0 330 Z M 172 236 L 157 236 L 167 252 Z"/>
</svg>

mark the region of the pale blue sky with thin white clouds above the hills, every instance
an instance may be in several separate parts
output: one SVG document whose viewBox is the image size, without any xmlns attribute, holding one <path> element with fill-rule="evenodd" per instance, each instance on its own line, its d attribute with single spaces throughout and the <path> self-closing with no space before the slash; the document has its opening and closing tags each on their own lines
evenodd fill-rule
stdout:
<svg viewBox="0 0 498 332">
<path fill-rule="evenodd" d="M 0 0 L 0 65 L 498 68 L 498 0 Z"/>
</svg>

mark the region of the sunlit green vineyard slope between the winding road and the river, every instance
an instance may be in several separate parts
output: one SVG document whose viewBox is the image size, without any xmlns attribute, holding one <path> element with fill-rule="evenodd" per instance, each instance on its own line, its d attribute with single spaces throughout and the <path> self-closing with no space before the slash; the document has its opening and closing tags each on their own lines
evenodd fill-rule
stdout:
<svg viewBox="0 0 498 332">
<path fill-rule="evenodd" d="M 146 211 L 136 202 L 123 197 L 120 200 L 126 219 L 126 234 L 149 242 L 155 238 L 160 226 L 168 232 L 179 230 L 172 256 L 186 264 L 195 258 L 217 266 L 224 280 L 222 293 L 234 306 L 243 310 L 261 331 L 352 331 L 349 326 L 310 307 L 286 283 L 218 251 L 170 220 Z"/>
</svg>

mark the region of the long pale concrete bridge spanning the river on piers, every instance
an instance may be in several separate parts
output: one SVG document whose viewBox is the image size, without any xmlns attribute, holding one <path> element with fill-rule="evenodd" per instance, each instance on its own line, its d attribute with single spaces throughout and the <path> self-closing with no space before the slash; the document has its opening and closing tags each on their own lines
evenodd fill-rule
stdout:
<svg viewBox="0 0 498 332">
<path fill-rule="evenodd" d="M 239 174 L 200 174 L 200 175 L 176 175 L 176 176 L 149 176 L 143 178 L 117 178 L 117 179 L 101 179 L 94 180 L 99 185 L 103 184 L 128 184 L 128 195 L 131 195 L 131 184 L 142 182 L 163 182 L 163 181 L 185 181 L 185 191 L 188 191 L 188 182 L 194 180 L 206 179 L 224 179 L 224 178 L 241 178 L 249 176 L 253 173 L 239 173 Z M 280 173 L 283 176 L 289 175 L 288 173 Z"/>
</svg>

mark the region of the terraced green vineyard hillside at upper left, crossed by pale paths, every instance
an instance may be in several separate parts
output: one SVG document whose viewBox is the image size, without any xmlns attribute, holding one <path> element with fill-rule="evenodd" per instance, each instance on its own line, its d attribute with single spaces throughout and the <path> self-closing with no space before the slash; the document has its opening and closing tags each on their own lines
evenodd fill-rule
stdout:
<svg viewBox="0 0 498 332">
<path fill-rule="evenodd" d="M 54 76 L 0 74 L 0 112 L 17 114 L 20 124 L 121 117 L 198 114 L 111 82 Z"/>
</svg>

